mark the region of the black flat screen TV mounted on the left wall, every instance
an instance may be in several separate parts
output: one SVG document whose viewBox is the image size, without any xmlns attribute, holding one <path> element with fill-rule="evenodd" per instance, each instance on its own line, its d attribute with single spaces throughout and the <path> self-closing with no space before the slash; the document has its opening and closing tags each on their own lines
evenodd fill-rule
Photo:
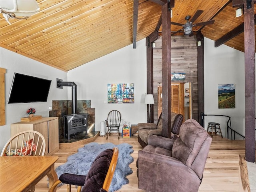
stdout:
<svg viewBox="0 0 256 192">
<path fill-rule="evenodd" d="M 8 103 L 46 102 L 52 80 L 14 73 Z"/>
</svg>

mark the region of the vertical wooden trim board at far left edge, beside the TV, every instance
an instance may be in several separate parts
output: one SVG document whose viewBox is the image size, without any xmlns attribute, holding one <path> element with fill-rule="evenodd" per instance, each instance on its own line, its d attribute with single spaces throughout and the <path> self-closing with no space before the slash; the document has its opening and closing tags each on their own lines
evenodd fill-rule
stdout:
<svg viewBox="0 0 256 192">
<path fill-rule="evenodd" d="M 0 126 L 5 125 L 5 73 L 6 69 L 0 68 Z"/>
</svg>

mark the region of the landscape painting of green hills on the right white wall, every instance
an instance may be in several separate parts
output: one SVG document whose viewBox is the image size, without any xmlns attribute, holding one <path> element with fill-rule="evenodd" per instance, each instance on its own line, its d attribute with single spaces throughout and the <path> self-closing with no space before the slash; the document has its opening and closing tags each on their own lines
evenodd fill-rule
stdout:
<svg viewBox="0 0 256 192">
<path fill-rule="evenodd" d="M 218 84 L 219 109 L 236 108 L 235 84 Z"/>
</svg>

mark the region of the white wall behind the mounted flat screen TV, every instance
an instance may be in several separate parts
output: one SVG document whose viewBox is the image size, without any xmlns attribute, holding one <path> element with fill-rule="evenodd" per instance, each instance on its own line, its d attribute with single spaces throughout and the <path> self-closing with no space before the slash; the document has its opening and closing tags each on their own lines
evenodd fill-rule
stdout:
<svg viewBox="0 0 256 192">
<path fill-rule="evenodd" d="M 20 54 L 0 47 L 0 67 L 6 69 L 5 74 L 5 112 L 6 125 L 0 126 L 0 151 L 10 138 L 10 124 L 20 122 L 21 117 L 28 116 L 26 110 L 30 107 L 36 109 L 35 115 L 49 116 L 48 107 L 52 106 L 52 100 L 66 100 L 67 90 L 56 88 L 56 78 L 67 80 L 67 73 L 46 64 L 42 64 Z M 14 72 L 52 80 L 47 102 L 8 104 L 8 96 L 12 84 Z M 24 86 L 29 86 L 29 82 Z M 20 91 L 20 94 L 33 96 L 33 87 L 30 93 Z"/>
</svg>

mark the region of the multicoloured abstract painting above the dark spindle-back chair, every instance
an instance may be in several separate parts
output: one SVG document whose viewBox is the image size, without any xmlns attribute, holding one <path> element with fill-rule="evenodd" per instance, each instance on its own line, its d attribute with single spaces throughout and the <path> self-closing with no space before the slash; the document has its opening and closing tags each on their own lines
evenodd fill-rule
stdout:
<svg viewBox="0 0 256 192">
<path fill-rule="evenodd" d="M 108 103 L 134 103 L 134 83 L 108 84 Z"/>
</svg>

